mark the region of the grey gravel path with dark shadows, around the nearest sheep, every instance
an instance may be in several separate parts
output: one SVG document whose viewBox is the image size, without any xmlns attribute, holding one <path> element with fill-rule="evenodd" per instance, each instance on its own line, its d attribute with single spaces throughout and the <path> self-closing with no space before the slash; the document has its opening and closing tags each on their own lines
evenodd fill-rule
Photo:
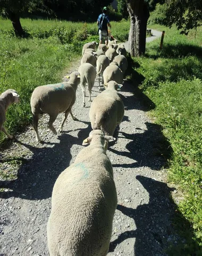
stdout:
<svg viewBox="0 0 202 256">
<path fill-rule="evenodd" d="M 93 97 L 98 93 L 96 79 Z M 171 226 L 172 188 L 165 183 L 166 170 L 162 171 L 165 138 L 161 127 L 147 116 L 148 109 L 137 88 L 125 81 L 120 94 L 125 116 L 114 134 L 116 143 L 107 151 L 118 196 L 108 255 L 165 256 L 164 249 L 178 239 Z M 43 145 L 35 141 L 30 126 L 2 150 L 1 168 L 5 174 L 17 174 L 17 178 L 8 181 L 0 177 L 1 256 L 48 255 L 46 225 L 52 189 L 58 175 L 74 162 L 83 148 L 83 139 L 91 131 L 89 107 L 89 102 L 86 108 L 82 107 L 79 87 L 73 107 L 79 121 L 69 116 L 64 132 L 57 136 L 46 128 L 48 117 L 43 115 L 39 120 Z M 58 116 L 55 127 L 59 127 L 62 117 Z M 10 161 L 13 157 L 15 161 Z"/>
</svg>

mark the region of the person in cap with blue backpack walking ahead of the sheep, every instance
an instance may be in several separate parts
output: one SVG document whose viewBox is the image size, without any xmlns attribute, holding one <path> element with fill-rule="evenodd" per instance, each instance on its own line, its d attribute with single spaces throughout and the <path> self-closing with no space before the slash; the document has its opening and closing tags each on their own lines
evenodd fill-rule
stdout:
<svg viewBox="0 0 202 256">
<path fill-rule="evenodd" d="M 103 39 L 105 44 L 108 44 L 108 27 L 111 28 L 110 20 L 106 15 L 107 7 L 103 7 L 103 13 L 99 15 L 97 19 L 98 31 L 99 31 L 99 44 L 102 44 Z"/>
</svg>

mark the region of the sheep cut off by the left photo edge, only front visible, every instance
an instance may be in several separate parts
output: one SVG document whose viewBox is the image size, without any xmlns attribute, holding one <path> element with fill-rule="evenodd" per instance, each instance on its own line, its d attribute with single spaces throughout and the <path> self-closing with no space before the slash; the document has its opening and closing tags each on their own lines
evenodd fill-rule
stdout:
<svg viewBox="0 0 202 256">
<path fill-rule="evenodd" d="M 6 90 L 0 95 L 0 131 L 4 132 L 8 139 L 13 139 L 13 136 L 10 135 L 3 126 L 6 121 L 6 111 L 12 103 L 18 103 L 19 101 L 20 96 L 18 92 L 12 89 Z"/>
</svg>

